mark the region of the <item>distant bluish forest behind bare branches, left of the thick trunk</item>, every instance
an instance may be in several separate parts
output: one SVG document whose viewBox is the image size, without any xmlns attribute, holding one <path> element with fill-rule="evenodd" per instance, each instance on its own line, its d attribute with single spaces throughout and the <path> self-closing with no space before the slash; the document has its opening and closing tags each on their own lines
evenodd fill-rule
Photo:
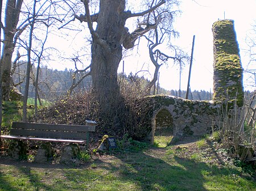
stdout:
<svg viewBox="0 0 256 191">
<path fill-rule="evenodd" d="M 28 97 L 35 97 L 35 71 L 35 66 L 32 66 Z M 67 68 L 65 70 L 53 70 L 49 69 L 47 66 L 40 67 L 38 82 L 39 97 L 41 99 L 53 101 L 60 96 L 67 95 L 73 81 L 79 81 L 81 75 L 84 74 L 75 74 L 75 71 Z M 13 74 L 13 84 L 22 94 L 24 94 L 25 89 L 25 77 L 26 64 L 24 62 L 19 62 L 18 67 L 16 67 Z M 91 84 L 92 79 L 88 76 L 81 80 L 73 92 L 89 90 Z"/>
</svg>

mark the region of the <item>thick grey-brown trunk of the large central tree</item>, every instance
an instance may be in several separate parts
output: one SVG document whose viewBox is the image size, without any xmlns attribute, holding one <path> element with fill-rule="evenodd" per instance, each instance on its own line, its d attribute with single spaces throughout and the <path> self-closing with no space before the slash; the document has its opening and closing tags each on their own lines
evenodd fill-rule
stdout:
<svg viewBox="0 0 256 191">
<path fill-rule="evenodd" d="M 117 69 L 122 59 L 122 35 L 125 30 L 125 0 L 100 1 L 96 32 L 108 48 L 92 41 L 92 83 L 104 113 L 115 108 L 120 101 Z M 115 108 L 116 109 L 116 108 Z M 114 112 L 114 111 L 110 111 Z"/>
</svg>

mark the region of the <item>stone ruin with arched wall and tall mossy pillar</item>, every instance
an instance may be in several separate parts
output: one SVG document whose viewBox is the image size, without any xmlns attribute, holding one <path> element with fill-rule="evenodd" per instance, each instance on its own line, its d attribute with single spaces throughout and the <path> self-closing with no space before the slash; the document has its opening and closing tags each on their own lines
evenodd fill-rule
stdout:
<svg viewBox="0 0 256 191">
<path fill-rule="evenodd" d="M 154 105 L 151 112 L 151 132 L 154 143 L 156 115 L 167 109 L 173 118 L 174 137 L 202 136 L 216 128 L 218 108 L 225 101 L 243 105 L 242 66 L 233 20 L 218 20 L 213 24 L 214 83 L 213 101 L 192 101 L 175 96 L 148 96 Z"/>
</svg>

